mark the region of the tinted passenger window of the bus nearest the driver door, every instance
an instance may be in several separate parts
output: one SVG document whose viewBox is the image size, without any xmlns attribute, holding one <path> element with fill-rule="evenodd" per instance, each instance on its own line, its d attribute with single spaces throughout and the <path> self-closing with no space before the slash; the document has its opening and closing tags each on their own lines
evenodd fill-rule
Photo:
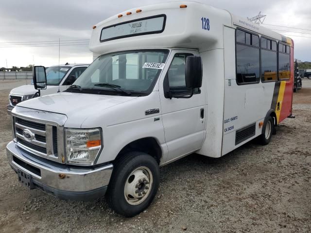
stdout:
<svg viewBox="0 0 311 233">
<path fill-rule="evenodd" d="M 246 33 L 246 40 L 243 43 L 238 39 L 241 30 L 237 30 L 236 44 L 236 70 L 237 83 L 259 83 L 259 36 Z M 243 32 L 244 33 L 244 32 Z"/>
</svg>

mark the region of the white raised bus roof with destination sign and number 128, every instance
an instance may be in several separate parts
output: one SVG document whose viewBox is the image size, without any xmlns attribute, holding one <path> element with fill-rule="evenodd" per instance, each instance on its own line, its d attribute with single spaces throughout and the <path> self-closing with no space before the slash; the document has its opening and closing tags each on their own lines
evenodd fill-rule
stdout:
<svg viewBox="0 0 311 233">
<path fill-rule="evenodd" d="M 150 18 L 155 19 L 151 21 Z M 204 25 L 207 21 L 203 18 L 208 19 L 208 30 Z M 129 27 L 137 26 L 135 22 L 142 23 L 147 31 L 157 31 L 134 36 Z M 226 10 L 195 1 L 173 1 L 133 8 L 96 24 L 89 48 L 95 54 L 154 48 L 223 49 L 224 25 L 240 27 L 293 45 L 292 39 Z M 110 35 L 119 37 L 109 39 Z"/>
</svg>

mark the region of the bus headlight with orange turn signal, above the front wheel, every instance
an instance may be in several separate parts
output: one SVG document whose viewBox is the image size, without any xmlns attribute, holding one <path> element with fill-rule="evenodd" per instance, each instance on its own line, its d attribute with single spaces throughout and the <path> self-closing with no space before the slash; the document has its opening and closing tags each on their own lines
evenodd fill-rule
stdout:
<svg viewBox="0 0 311 233">
<path fill-rule="evenodd" d="M 93 165 L 102 148 L 99 129 L 66 129 L 67 163 Z"/>
</svg>

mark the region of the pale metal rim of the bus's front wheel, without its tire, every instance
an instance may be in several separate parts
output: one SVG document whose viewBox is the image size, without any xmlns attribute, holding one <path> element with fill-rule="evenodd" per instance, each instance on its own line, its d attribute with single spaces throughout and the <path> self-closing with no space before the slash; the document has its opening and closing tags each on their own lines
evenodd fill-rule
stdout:
<svg viewBox="0 0 311 233">
<path fill-rule="evenodd" d="M 126 179 L 124 185 L 124 197 L 127 203 L 138 205 L 150 194 L 153 184 L 153 176 L 148 167 L 140 166 Z"/>
</svg>

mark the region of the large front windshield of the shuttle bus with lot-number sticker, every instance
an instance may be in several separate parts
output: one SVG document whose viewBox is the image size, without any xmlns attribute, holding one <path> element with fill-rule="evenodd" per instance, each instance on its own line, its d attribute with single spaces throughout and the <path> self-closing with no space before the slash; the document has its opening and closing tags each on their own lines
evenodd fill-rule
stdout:
<svg viewBox="0 0 311 233">
<path fill-rule="evenodd" d="M 67 91 L 148 95 L 165 65 L 168 52 L 169 50 L 134 50 L 101 55 L 74 82 L 73 88 Z"/>
</svg>

